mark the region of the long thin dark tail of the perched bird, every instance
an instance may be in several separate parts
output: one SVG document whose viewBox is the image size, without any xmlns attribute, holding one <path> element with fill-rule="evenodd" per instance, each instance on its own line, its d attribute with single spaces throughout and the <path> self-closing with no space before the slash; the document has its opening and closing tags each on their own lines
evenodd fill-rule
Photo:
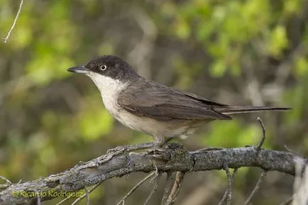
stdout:
<svg viewBox="0 0 308 205">
<path fill-rule="evenodd" d="M 260 111 L 282 111 L 290 110 L 290 108 L 279 108 L 270 106 L 228 106 L 221 109 L 220 112 L 225 115 L 237 114 L 237 113 L 254 113 Z"/>
</svg>

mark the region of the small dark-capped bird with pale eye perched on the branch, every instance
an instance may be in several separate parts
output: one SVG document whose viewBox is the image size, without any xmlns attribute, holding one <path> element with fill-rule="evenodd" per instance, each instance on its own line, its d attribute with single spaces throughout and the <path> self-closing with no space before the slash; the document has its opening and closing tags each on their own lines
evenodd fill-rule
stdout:
<svg viewBox="0 0 308 205">
<path fill-rule="evenodd" d="M 231 120 L 231 114 L 288 108 L 230 106 L 158 84 L 138 75 L 120 57 L 94 57 L 67 71 L 92 79 L 111 116 L 135 131 L 152 135 L 158 147 L 177 136 L 192 134 L 205 123 Z"/>
</svg>

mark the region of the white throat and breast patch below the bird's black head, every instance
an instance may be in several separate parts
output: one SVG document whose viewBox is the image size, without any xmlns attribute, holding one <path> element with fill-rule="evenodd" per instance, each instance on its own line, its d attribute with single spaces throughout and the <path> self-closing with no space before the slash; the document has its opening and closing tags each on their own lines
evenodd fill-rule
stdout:
<svg viewBox="0 0 308 205">
<path fill-rule="evenodd" d="M 92 79 L 99 89 L 99 92 L 101 92 L 101 98 L 103 99 L 106 109 L 111 115 L 117 116 L 120 109 L 118 104 L 119 93 L 123 91 L 123 89 L 126 89 L 128 84 L 121 82 L 119 79 L 112 79 L 111 77 L 95 72 L 89 72 L 87 76 Z"/>
</svg>

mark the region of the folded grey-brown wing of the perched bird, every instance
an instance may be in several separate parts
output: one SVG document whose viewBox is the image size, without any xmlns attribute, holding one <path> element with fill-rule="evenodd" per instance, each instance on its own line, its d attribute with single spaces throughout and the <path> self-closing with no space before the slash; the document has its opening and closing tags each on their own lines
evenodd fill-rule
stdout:
<svg viewBox="0 0 308 205">
<path fill-rule="evenodd" d="M 153 81 L 131 84 L 118 96 L 118 104 L 136 116 L 157 120 L 169 119 L 231 119 L 214 107 L 224 107 L 201 96 L 165 87 Z"/>
</svg>

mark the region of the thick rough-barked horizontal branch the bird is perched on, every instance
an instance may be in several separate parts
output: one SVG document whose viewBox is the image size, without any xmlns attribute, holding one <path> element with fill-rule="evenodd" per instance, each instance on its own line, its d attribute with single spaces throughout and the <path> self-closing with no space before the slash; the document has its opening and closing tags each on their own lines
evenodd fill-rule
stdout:
<svg viewBox="0 0 308 205">
<path fill-rule="evenodd" d="M 104 182 L 112 177 L 121 177 L 131 172 L 197 172 L 221 170 L 227 162 L 229 168 L 260 167 L 263 170 L 276 170 L 295 174 L 294 158 L 301 158 L 305 165 L 307 159 L 293 153 L 275 150 L 256 150 L 248 148 L 228 148 L 221 150 L 204 150 L 187 152 L 183 148 L 166 148 L 158 154 L 141 152 L 127 153 L 121 150 L 111 151 L 89 162 L 72 167 L 65 172 L 39 178 L 32 182 L 9 184 L 0 189 L 0 204 L 33 204 L 36 196 L 24 197 L 23 192 L 60 193 L 77 192 L 79 189 Z M 153 163 L 153 161 L 155 163 Z M 12 193 L 17 196 L 12 196 Z M 86 196 L 86 195 L 85 195 Z M 40 201 L 50 200 L 57 196 L 47 194 L 40 196 Z"/>
</svg>

